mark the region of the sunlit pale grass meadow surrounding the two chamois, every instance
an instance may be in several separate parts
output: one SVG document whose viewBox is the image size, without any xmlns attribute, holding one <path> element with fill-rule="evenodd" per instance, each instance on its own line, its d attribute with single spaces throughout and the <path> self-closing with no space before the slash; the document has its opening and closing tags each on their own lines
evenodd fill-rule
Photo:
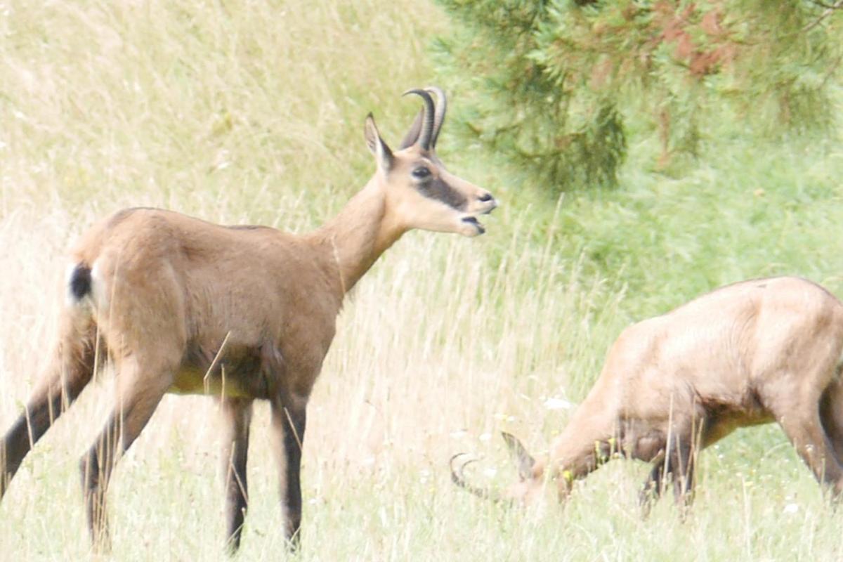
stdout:
<svg viewBox="0 0 843 562">
<path fill-rule="evenodd" d="M 701 455 L 685 522 L 670 500 L 639 517 L 640 463 L 609 463 L 564 510 L 550 492 L 547 505 L 517 511 L 454 489 L 454 452 L 484 457 L 479 482 L 514 478 L 497 431 L 543 452 L 636 319 L 757 276 L 806 276 L 843 296 L 835 73 L 813 82 L 821 99 L 804 107 L 804 122 L 825 126 L 779 127 L 780 115 L 754 112 L 760 102 L 705 98 L 685 151 L 652 107 L 628 103 L 616 109 L 623 149 L 611 174 L 535 174 L 507 153 L 512 143 L 476 134 L 491 78 L 454 57 L 471 29 L 483 37 L 456 4 L 0 2 L 0 428 L 33 386 L 64 251 L 91 222 L 152 205 L 304 232 L 371 174 L 366 113 L 395 145 L 417 110 L 401 92 L 439 83 L 452 102 L 443 160 L 502 207 L 482 238 L 409 233 L 348 300 L 309 409 L 297 558 L 843 557 L 843 515 L 776 426 Z M 789 60 L 792 75 L 834 68 L 840 15 L 816 26 L 834 56 Z M 507 110 L 520 108 L 490 115 Z M 111 381 L 86 390 L 26 459 L 0 505 L 0 559 L 92 556 L 77 465 L 110 409 Z M 111 559 L 224 559 L 215 418 L 211 399 L 164 400 L 113 480 Z M 258 409 L 244 560 L 285 556 L 267 420 Z"/>
</svg>

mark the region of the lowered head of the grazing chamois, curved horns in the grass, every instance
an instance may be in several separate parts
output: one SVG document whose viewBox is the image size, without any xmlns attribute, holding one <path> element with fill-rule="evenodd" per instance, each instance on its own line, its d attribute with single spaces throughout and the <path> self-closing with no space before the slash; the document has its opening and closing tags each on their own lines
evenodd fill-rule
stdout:
<svg viewBox="0 0 843 562">
<path fill-rule="evenodd" d="M 524 445 L 518 441 L 518 437 L 505 431 L 502 431 L 501 435 L 503 440 L 507 442 L 509 452 L 518 468 L 518 482 L 510 484 L 504 490 L 489 490 L 469 484 L 465 481 L 463 471 L 466 465 L 474 462 L 475 459 L 470 458 L 454 467 L 455 461 L 464 454 L 461 452 L 451 458 L 451 480 L 460 488 L 468 490 L 485 500 L 513 506 L 532 506 L 542 497 L 545 484 L 544 467 L 540 463 L 536 463 L 535 459 L 524 448 Z"/>
</svg>

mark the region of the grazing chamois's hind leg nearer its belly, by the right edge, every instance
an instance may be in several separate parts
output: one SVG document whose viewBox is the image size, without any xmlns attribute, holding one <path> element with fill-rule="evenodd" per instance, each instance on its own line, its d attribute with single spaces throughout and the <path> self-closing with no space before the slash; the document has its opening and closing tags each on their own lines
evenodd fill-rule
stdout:
<svg viewBox="0 0 843 562">
<path fill-rule="evenodd" d="M 803 402 L 776 408 L 773 413 L 817 481 L 831 485 L 832 494 L 837 496 L 843 486 L 843 467 L 837 461 L 834 447 L 820 421 L 819 401 Z"/>
</svg>

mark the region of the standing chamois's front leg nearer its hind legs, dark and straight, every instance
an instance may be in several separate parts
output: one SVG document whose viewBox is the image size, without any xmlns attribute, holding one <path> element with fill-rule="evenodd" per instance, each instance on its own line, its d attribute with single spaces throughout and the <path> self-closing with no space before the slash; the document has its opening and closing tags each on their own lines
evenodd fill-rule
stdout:
<svg viewBox="0 0 843 562">
<path fill-rule="evenodd" d="M 226 546 L 232 554 L 240 547 L 240 534 L 249 503 L 246 458 L 249 454 L 251 399 L 223 399 L 223 479 L 225 482 Z"/>
</svg>

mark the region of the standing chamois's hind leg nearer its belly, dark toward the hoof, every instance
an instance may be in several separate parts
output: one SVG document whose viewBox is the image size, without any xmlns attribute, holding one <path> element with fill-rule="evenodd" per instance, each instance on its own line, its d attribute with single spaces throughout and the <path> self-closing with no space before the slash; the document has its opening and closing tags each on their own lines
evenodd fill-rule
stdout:
<svg viewBox="0 0 843 562">
<path fill-rule="evenodd" d="M 95 550 L 110 549 L 105 495 L 115 464 L 132 446 L 172 384 L 178 361 L 135 354 L 123 361 L 117 373 L 117 400 L 105 428 L 79 463 L 88 515 L 88 527 Z M 151 355 L 151 354 L 150 354 Z"/>
</svg>

